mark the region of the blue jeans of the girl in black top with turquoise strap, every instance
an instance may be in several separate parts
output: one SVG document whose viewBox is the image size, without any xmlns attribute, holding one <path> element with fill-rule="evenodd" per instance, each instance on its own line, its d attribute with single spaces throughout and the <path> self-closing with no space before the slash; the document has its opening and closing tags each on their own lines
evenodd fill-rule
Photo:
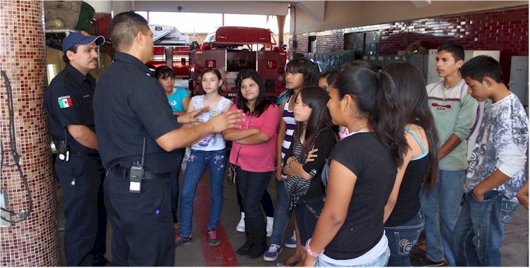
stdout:
<svg viewBox="0 0 530 268">
<path fill-rule="evenodd" d="M 384 227 L 390 248 L 390 258 L 387 266 L 411 266 L 411 250 L 418 242 L 421 231 L 423 231 L 423 217 L 418 212 L 415 217 L 409 219 L 400 226 Z"/>
</svg>

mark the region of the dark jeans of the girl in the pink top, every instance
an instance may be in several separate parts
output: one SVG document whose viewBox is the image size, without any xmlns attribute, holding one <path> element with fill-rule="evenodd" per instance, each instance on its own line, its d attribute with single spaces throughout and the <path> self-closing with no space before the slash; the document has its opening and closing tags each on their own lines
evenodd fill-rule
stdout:
<svg viewBox="0 0 530 268">
<path fill-rule="evenodd" d="M 261 213 L 259 202 L 267 183 L 269 183 L 272 171 L 251 172 L 236 166 L 235 172 L 237 173 L 237 188 L 243 201 L 246 221 L 250 222 L 254 229 L 265 229 L 265 218 Z"/>
</svg>

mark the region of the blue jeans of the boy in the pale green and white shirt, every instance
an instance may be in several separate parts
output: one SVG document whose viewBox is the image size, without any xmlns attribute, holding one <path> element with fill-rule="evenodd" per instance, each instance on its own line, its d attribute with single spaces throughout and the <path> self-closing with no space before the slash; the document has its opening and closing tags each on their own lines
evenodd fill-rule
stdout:
<svg viewBox="0 0 530 268">
<path fill-rule="evenodd" d="M 420 202 L 425 221 L 425 251 L 433 262 L 443 262 L 445 255 L 447 266 L 455 266 L 452 237 L 460 215 L 465 180 L 465 170 L 439 170 L 431 193 L 422 185 Z"/>
</svg>

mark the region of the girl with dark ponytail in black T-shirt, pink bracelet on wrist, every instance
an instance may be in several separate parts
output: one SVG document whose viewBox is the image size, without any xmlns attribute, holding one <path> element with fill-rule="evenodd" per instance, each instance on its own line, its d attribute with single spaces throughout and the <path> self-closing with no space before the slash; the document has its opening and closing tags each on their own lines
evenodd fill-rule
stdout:
<svg viewBox="0 0 530 268">
<path fill-rule="evenodd" d="M 384 206 L 408 150 L 397 92 L 388 73 L 354 66 L 337 75 L 329 96 L 333 123 L 350 133 L 329 157 L 326 203 L 303 266 L 384 266 Z"/>
</svg>

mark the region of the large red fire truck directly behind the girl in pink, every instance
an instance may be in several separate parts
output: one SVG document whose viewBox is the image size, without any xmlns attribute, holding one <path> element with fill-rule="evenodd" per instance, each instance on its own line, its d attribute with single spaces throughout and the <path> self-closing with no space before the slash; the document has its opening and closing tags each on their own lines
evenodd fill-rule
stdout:
<svg viewBox="0 0 530 268">
<path fill-rule="evenodd" d="M 221 73 L 221 95 L 235 97 L 235 78 L 245 69 L 256 70 L 264 80 L 266 96 L 277 97 L 285 89 L 287 53 L 276 46 L 270 30 L 251 27 L 219 27 L 206 36 L 201 47 L 189 52 L 189 90 L 203 94 L 201 74 L 206 68 Z"/>
</svg>

